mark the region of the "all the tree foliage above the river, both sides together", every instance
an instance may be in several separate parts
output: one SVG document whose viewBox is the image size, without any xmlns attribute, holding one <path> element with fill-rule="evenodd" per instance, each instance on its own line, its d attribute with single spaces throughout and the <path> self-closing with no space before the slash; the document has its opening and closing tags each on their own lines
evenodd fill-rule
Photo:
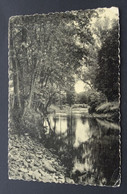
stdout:
<svg viewBox="0 0 127 194">
<path fill-rule="evenodd" d="M 101 12 L 10 19 L 10 108 L 16 122 L 28 109 L 45 118 L 52 104 L 78 103 L 74 91 L 77 80 L 90 88 L 81 103 L 93 102 L 95 109 L 101 103 L 98 96 L 118 99 L 118 25 L 115 19 L 107 25 L 107 17 L 102 24 Z"/>
</svg>

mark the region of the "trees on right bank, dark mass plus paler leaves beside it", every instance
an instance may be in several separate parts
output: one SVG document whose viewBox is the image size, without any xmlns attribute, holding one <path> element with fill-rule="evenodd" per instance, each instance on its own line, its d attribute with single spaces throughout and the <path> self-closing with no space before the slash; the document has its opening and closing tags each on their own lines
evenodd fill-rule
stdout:
<svg viewBox="0 0 127 194">
<path fill-rule="evenodd" d="M 109 22 L 109 23 L 108 23 Z M 106 95 L 109 101 L 118 100 L 119 57 L 118 21 L 105 17 L 96 20 L 91 28 L 94 41 L 89 45 L 89 54 L 83 57 L 78 74 L 91 89 Z"/>
</svg>

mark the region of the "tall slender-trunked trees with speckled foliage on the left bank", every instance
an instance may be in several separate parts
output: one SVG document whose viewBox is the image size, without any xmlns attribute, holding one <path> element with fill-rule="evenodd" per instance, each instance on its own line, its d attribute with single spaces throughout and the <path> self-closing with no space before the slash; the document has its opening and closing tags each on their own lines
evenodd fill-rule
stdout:
<svg viewBox="0 0 127 194">
<path fill-rule="evenodd" d="M 80 59 L 88 53 L 81 43 L 93 41 L 89 21 L 95 13 L 74 11 L 10 19 L 12 109 L 22 110 L 24 115 L 32 107 L 46 115 L 55 98 L 62 92 L 69 94 Z"/>
</svg>

